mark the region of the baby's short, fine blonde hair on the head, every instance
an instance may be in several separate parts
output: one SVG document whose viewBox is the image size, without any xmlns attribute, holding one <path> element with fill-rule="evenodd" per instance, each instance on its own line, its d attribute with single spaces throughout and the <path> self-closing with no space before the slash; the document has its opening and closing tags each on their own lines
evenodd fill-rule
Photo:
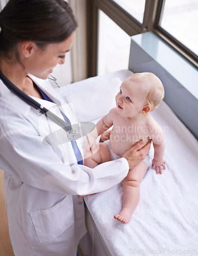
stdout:
<svg viewBox="0 0 198 256">
<path fill-rule="evenodd" d="M 151 105 L 151 111 L 157 109 L 164 98 L 164 87 L 161 80 L 150 72 L 135 73 L 131 77 L 146 86 L 147 96 L 145 104 Z"/>
</svg>

